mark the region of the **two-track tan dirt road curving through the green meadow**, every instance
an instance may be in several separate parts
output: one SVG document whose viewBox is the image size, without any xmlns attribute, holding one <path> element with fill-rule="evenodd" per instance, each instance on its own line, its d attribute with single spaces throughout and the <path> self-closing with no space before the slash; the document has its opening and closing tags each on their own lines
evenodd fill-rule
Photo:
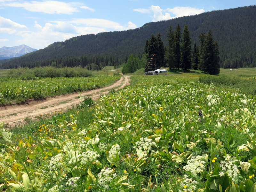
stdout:
<svg viewBox="0 0 256 192">
<path fill-rule="evenodd" d="M 72 108 L 80 103 L 78 96 L 90 96 L 94 101 L 101 94 L 107 94 L 109 90 L 123 88 L 129 85 L 130 77 L 123 76 L 114 84 L 99 89 L 94 89 L 86 92 L 67 94 L 47 98 L 44 100 L 29 100 L 25 104 L 2 106 L 0 107 L 0 122 L 8 124 L 10 127 L 24 123 L 24 119 L 35 119 L 42 115 L 51 116 L 55 111 L 65 111 L 67 108 Z"/>
</svg>

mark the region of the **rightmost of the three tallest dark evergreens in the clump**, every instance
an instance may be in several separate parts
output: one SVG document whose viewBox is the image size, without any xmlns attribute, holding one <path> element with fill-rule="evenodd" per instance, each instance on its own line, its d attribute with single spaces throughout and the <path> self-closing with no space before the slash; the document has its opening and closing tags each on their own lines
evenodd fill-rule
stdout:
<svg viewBox="0 0 256 192">
<path fill-rule="evenodd" d="M 185 71 L 191 69 L 191 43 L 188 25 L 185 24 L 180 46 L 181 63 Z"/>
</svg>

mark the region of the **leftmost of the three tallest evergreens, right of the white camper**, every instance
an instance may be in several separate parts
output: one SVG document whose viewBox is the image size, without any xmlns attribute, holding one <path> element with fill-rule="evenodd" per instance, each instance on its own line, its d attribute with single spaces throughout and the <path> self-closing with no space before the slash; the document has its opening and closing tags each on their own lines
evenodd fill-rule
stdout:
<svg viewBox="0 0 256 192">
<path fill-rule="evenodd" d="M 165 52 L 165 57 L 167 60 L 167 65 L 169 66 L 169 69 L 171 70 L 174 62 L 174 57 L 173 57 L 173 49 L 174 49 L 174 32 L 172 30 L 172 26 L 169 27 L 169 30 L 167 32 L 167 37 L 168 37 L 168 46 Z"/>
</svg>

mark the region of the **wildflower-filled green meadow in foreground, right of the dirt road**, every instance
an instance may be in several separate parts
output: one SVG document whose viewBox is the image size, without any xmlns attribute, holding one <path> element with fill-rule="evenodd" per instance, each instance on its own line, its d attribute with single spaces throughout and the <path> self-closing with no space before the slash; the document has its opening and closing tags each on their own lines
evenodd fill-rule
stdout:
<svg viewBox="0 0 256 192">
<path fill-rule="evenodd" d="M 12 130 L 2 123 L 0 190 L 256 191 L 255 95 L 199 71 L 140 73 L 97 103 Z"/>
</svg>

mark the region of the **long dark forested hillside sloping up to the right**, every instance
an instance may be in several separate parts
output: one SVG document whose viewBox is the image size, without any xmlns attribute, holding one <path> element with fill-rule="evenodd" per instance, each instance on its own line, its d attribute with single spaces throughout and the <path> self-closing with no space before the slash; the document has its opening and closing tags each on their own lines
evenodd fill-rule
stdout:
<svg viewBox="0 0 256 192">
<path fill-rule="evenodd" d="M 220 66 L 256 67 L 255 45 L 256 5 L 228 10 L 205 12 L 167 21 L 151 22 L 133 30 L 82 35 L 65 42 L 55 42 L 48 47 L 10 59 L 1 68 L 18 66 L 95 66 L 119 65 L 130 54 L 142 56 L 146 40 L 160 33 L 167 46 L 169 26 L 188 25 L 192 45 L 199 44 L 200 33 L 212 31 L 219 44 Z"/>
</svg>

